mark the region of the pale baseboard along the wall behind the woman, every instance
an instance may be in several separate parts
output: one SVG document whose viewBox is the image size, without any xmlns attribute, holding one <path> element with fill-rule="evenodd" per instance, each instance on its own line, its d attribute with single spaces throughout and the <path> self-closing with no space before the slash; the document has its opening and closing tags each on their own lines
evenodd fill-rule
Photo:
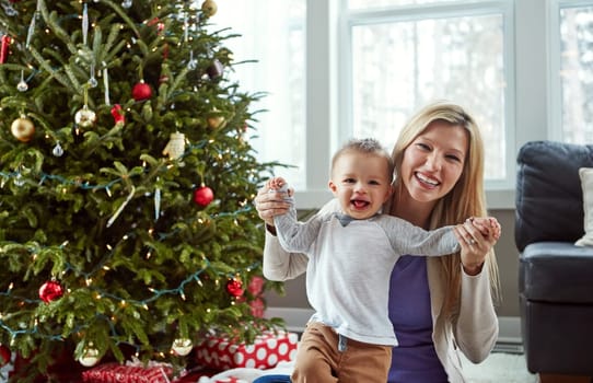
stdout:
<svg viewBox="0 0 593 383">
<path fill-rule="evenodd" d="M 287 329 L 302 333 L 306 321 L 313 315 L 311 309 L 268 307 L 266 317 L 281 317 Z M 499 316 L 499 336 L 495 351 L 509 353 L 523 353 L 521 340 L 521 318 L 519 316 Z"/>
</svg>

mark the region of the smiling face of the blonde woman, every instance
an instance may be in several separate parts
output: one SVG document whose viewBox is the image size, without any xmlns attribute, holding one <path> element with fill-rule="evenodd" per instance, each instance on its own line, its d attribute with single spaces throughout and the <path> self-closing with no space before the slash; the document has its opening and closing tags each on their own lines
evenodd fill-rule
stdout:
<svg viewBox="0 0 593 383">
<path fill-rule="evenodd" d="M 400 176 L 409 196 L 437 201 L 460 179 L 468 150 L 467 131 L 445 121 L 432 121 L 404 151 Z"/>
</svg>

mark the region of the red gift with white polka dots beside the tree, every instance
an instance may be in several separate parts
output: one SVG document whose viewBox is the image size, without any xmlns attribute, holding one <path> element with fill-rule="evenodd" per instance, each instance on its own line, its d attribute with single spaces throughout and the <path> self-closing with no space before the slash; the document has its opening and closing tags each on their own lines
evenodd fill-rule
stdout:
<svg viewBox="0 0 593 383">
<path fill-rule="evenodd" d="M 299 336 L 287 332 L 265 332 L 253 345 L 211 335 L 196 346 L 197 362 L 213 369 L 271 369 L 296 356 Z"/>
</svg>

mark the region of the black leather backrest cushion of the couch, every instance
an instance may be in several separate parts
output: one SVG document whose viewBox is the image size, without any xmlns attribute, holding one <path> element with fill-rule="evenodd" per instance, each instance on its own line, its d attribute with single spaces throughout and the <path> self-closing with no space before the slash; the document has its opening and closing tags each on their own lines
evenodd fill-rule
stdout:
<svg viewBox="0 0 593 383">
<path fill-rule="evenodd" d="M 518 154 L 515 243 L 574 243 L 583 233 L 580 167 L 593 167 L 593 146 L 532 141 Z"/>
</svg>

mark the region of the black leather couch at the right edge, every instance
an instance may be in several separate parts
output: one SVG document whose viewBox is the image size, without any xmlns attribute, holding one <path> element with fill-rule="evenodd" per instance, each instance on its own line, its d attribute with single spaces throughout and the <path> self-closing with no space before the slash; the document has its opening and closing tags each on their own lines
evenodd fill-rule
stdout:
<svg viewBox="0 0 593 383">
<path fill-rule="evenodd" d="M 593 146 L 533 141 L 518 154 L 514 234 L 532 373 L 593 376 L 593 247 L 574 245 L 584 234 L 580 167 L 593 167 Z"/>
</svg>

